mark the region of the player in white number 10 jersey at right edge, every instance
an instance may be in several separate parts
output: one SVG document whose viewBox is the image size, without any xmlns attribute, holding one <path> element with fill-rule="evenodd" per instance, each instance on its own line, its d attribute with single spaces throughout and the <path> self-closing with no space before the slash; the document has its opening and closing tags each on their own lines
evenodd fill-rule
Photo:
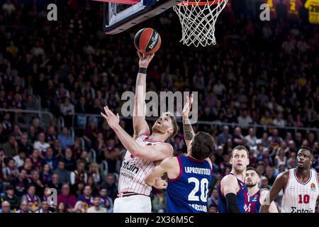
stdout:
<svg viewBox="0 0 319 227">
<path fill-rule="evenodd" d="M 269 210 L 269 203 L 276 199 L 281 189 L 284 197 L 281 213 L 315 213 L 315 202 L 319 195 L 318 173 L 311 169 L 313 152 L 301 147 L 297 153 L 298 165 L 279 175 L 260 207 L 260 213 Z"/>
</svg>

